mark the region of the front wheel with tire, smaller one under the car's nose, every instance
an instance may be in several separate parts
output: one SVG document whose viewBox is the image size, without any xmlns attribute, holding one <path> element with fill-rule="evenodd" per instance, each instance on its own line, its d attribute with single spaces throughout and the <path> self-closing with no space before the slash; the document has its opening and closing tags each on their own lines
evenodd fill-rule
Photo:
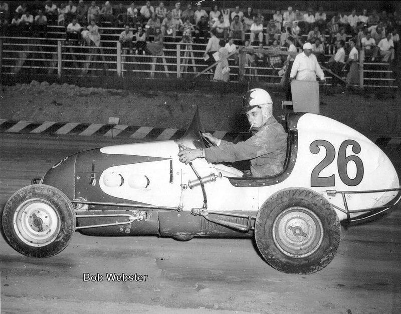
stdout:
<svg viewBox="0 0 401 314">
<path fill-rule="evenodd" d="M 55 187 L 34 184 L 10 197 L 3 210 L 3 232 L 9 244 L 30 257 L 50 257 L 66 248 L 76 217 L 68 197 Z"/>
</svg>

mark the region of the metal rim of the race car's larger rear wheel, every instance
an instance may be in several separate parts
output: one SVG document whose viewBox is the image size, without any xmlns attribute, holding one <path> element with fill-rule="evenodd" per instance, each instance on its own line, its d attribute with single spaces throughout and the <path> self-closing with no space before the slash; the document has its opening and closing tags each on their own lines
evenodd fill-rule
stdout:
<svg viewBox="0 0 401 314">
<path fill-rule="evenodd" d="M 322 222 L 308 208 L 289 207 L 283 210 L 273 223 L 273 241 L 287 256 L 310 256 L 323 241 Z"/>
</svg>

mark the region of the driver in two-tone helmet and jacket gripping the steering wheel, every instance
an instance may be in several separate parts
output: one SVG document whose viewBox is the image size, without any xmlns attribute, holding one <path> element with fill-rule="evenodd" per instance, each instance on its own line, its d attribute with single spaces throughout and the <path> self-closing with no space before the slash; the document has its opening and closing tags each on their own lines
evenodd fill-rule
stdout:
<svg viewBox="0 0 401 314">
<path fill-rule="evenodd" d="M 251 161 L 251 173 L 255 177 L 274 176 L 283 171 L 287 150 L 287 133 L 273 117 L 273 101 L 269 93 L 260 88 L 249 90 L 242 99 L 242 110 L 246 114 L 254 135 L 237 144 L 203 133 L 216 146 L 190 149 L 184 147 L 178 153 L 185 164 L 206 158 L 209 163 Z"/>
</svg>

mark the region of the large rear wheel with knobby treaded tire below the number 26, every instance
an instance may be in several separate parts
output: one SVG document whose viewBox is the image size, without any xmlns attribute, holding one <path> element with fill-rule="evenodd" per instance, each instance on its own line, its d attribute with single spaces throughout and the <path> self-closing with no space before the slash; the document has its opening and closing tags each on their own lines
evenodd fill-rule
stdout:
<svg viewBox="0 0 401 314">
<path fill-rule="evenodd" d="M 322 195 L 290 188 L 277 192 L 262 205 L 256 216 L 255 239 L 273 268 L 291 274 L 311 274 L 334 258 L 341 225 Z"/>
</svg>

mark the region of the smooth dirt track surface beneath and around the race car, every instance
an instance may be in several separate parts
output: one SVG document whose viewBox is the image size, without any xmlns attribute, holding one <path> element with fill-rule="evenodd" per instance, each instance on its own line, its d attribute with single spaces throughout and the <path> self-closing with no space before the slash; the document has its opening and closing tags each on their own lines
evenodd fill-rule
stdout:
<svg viewBox="0 0 401 314">
<path fill-rule="evenodd" d="M 121 140 L 122 141 L 122 140 Z M 118 142 L 121 143 L 121 142 Z M 61 158 L 112 139 L 0 134 L 0 206 Z M 386 151 L 400 169 L 400 148 Z M 399 171 L 398 171 L 399 174 Z M 92 237 L 76 232 L 51 258 L 29 258 L 0 237 L 2 313 L 399 313 L 401 207 L 342 228 L 334 260 L 312 275 L 264 262 L 252 239 Z M 84 273 L 103 276 L 83 280 Z M 148 275 L 107 281 L 107 273 Z"/>
</svg>

